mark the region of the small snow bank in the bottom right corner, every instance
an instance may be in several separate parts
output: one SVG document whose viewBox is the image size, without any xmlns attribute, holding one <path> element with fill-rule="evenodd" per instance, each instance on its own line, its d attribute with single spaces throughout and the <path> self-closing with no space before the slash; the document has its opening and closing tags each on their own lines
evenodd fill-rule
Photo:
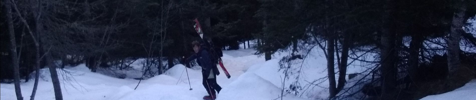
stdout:
<svg viewBox="0 0 476 100">
<path fill-rule="evenodd" d="M 438 95 L 426 96 L 420 100 L 476 100 L 476 79 L 466 83 L 465 86 L 454 91 Z"/>
</svg>

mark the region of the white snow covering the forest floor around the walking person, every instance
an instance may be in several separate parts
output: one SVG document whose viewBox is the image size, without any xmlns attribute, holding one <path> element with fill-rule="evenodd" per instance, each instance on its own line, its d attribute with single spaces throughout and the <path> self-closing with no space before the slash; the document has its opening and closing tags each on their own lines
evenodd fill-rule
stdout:
<svg viewBox="0 0 476 100">
<path fill-rule="evenodd" d="M 243 48 L 243 47 L 241 47 Z M 297 91 L 287 93 L 284 91 L 283 100 L 324 100 L 328 97 L 328 81 L 326 58 L 322 50 L 317 46 L 303 54 L 307 57 L 303 60 L 292 61 L 289 72 L 285 78 L 283 70 L 279 70 L 279 61 L 288 52 L 278 52 L 273 59 L 265 61 L 264 56 L 253 55 L 253 49 L 238 49 L 224 51 L 223 63 L 231 74 L 228 79 L 220 69 L 217 76 L 218 84 L 223 90 L 218 94 L 217 100 L 274 100 L 281 96 L 281 89 L 289 90 L 290 84 L 297 85 Z M 301 53 L 305 53 L 301 51 Z M 371 57 L 370 57 L 371 58 Z M 138 60 L 137 62 L 140 62 Z M 207 95 L 203 88 L 201 71 L 199 68 L 187 69 L 190 85 L 189 90 L 185 66 L 178 64 L 170 68 L 166 73 L 143 80 L 137 90 L 134 90 L 141 74 L 141 64 L 133 63 L 132 70 L 110 71 L 110 69 L 98 69 L 92 73 L 84 65 L 66 67 L 59 70 L 63 98 L 65 100 L 202 100 Z M 349 60 L 349 63 L 351 60 Z M 366 68 L 365 63 L 352 62 L 347 73 L 360 73 Z M 41 69 L 40 83 L 36 100 L 54 99 L 54 91 L 50 82 L 48 69 Z M 119 75 L 118 75 L 119 74 Z M 125 79 L 119 79 L 120 74 L 127 75 Z M 297 78 L 298 77 L 298 78 Z M 336 77 L 338 75 L 336 74 Z M 347 78 L 347 77 L 346 77 Z M 283 80 L 286 81 L 283 82 Z M 284 85 L 283 85 L 284 83 Z M 22 82 L 23 97 L 30 98 L 33 81 Z M 1 84 L 2 100 L 14 100 L 13 84 Z"/>
</svg>

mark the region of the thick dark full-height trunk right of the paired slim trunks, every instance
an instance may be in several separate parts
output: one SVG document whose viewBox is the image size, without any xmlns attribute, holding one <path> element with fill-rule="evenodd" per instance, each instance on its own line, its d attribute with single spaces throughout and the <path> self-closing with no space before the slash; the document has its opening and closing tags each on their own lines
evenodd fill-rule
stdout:
<svg viewBox="0 0 476 100">
<path fill-rule="evenodd" d="M 393 9 L 393 0 L 387 0 L 382 15 L 382 35 L 380 51 L 380 70 L 382 73 L 382 100 L 393 100 L 396 86 L 396 67 L 395 67 L 395 33 L 391 30 L 391 13 Z"/>
</svg>

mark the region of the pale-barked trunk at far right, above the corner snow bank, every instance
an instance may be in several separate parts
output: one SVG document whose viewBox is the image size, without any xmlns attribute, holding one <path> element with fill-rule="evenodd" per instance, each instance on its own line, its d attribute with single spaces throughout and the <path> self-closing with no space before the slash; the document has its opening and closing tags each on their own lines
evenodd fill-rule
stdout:
<svg viewBox="0 0 476 100">
<path fill-rule="evenodd" d="M 459 4 L 455 14 L 453 15 L 453 21 L 451 23 L 451 33 L 448 38 L 448 72 L 449 76 L 455 74 L 455 70 L 460 67 L 461 61 L 459 59 L 459 42 L 461 41 L 461 33 L 464 32 L 462 27 L 465 23 L 466 4 L 464 0 L 456 0 L 456 4 Z"/>
</svg>

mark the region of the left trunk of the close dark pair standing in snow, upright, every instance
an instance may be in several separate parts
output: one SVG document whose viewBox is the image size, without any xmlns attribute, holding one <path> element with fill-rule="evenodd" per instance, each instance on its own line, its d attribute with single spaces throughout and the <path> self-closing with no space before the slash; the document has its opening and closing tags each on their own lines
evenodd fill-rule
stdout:
<svg viewBox="0 0 476 100">
<path fill-rule="evenodd" d="M 327 40 L 327 76 L 329 78 L 329 98 L 334 98 L 336 90 L 336 73 L 334 71 L 334 39 Z"/>
</svg>

